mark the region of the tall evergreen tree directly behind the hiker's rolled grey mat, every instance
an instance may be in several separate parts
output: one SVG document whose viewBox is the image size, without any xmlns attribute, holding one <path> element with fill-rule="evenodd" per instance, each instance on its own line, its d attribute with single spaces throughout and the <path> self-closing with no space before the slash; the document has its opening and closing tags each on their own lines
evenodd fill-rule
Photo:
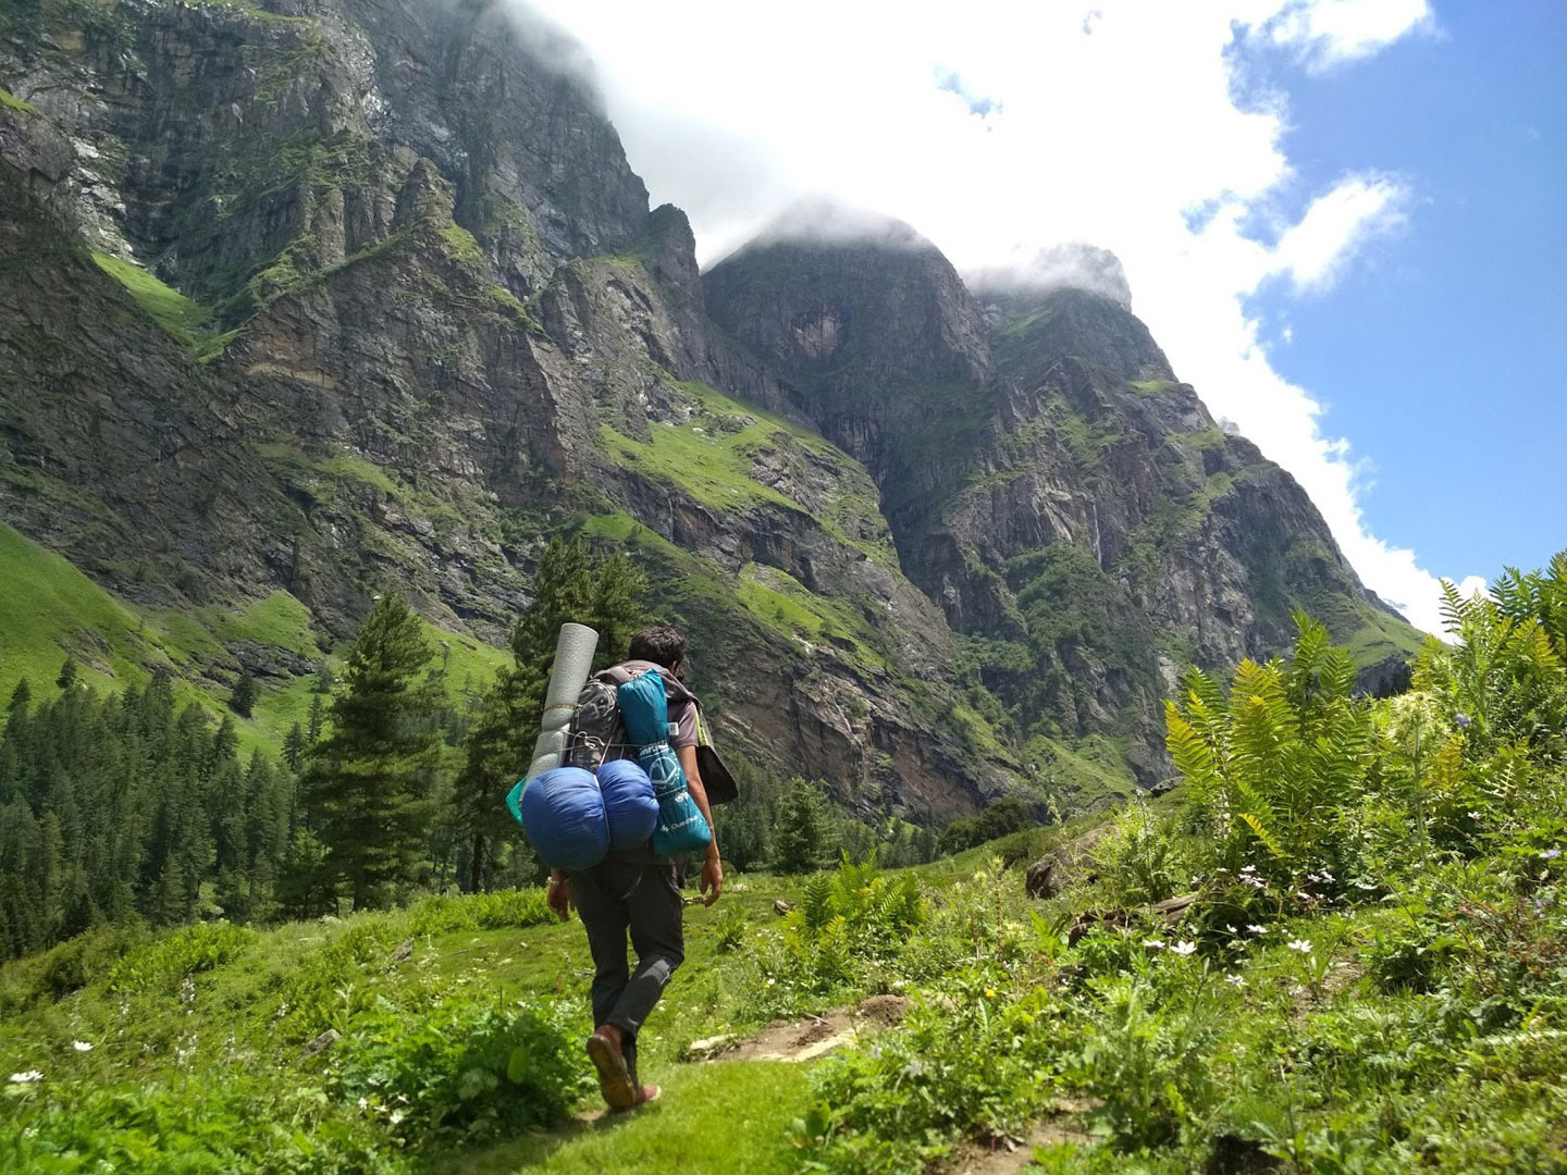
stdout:
<svg viewBox="0 0 1567 1175">
<path fill-rule="evenodd" d="M 614 664 L 642 624 L 646 589 L 647 577 L 622 553 L 595 556 L 581 539 L 553 539 L 545 548 L 533 581 L 533 602 L 511 634 L 514 664 L 484 692 L 469 719 L 467 754 L 454 790 L 465 888 L 489 884 L 495 841 L 516 835 L 503 797 L 528 769 L 561 625 L 594 628 L 599 633 L 594 667 Z"/>
</svg>

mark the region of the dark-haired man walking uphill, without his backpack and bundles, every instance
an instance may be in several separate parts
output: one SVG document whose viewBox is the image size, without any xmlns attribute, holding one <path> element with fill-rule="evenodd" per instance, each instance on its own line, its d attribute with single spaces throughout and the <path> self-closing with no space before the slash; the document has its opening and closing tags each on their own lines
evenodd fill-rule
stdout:
<svg viewBox="0 0 1567 1175">
<path fill-rule="evenodd" d="M 674 747 L 685 771 L 691 799 L 702 810 L 708 827 L 713 812 L 697 769 L 700 710 L 685 688 L 685 636 L 669 625 L 655 625 L 632 638 L 627 660 L 600 677 L 621 685 L 642 672 L 660 672 L 669 700 Z M 611 749 L 610 758 L 635 757 L 630 747 Z M 594 1032 L 588 1056 L 599 1070 L 599 1089 L 611 1109 L 635 1109 L 658 1097 L 658 1086 L 644 1086 L 636 1073 L 636 1034 L 663 995 L 664 984 L 685 959 L 683 901 L 679 866 L 669 857 L 655 857 L 650 846 L 614 852 L 591 870 L 566 873 L 550 870 L 550 909 L 567 918 L 572 906 L 588 931 L 592 951 Z M 707 846 L 700 891 L 711 906 L 724 890 L 724 868 L 718 857 L 718 837 Z M 636 967 L 627 967 L 625 938 L 630 932 Z"/>
</svg>

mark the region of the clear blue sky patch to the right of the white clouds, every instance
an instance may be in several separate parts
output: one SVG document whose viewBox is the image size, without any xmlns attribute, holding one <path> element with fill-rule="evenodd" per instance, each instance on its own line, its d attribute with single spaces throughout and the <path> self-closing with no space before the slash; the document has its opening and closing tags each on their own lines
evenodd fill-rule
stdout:
<svg viewBox="0 0 1567 1175">
<path fill-rule="evenodd" d="M 1567 548 L 1567 3 L 1435 16 L 1327 74 L 1258 53 L 1301 191 L 1385 171 L 1410 199 L 1329 295 L 1271 282 L 1249 306 L 1274 368 L 1370 462 L 1371 531 L 1495 575 Z"/>
</svg>

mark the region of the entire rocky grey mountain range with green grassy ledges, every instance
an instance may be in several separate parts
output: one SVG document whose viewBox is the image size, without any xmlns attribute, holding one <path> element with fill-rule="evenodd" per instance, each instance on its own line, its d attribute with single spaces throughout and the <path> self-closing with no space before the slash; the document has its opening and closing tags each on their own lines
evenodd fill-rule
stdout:
<svg viewBox="0 0 1567 1175">
<path fill-rule="evenodd" d="M 572 58 L 486 0 L 0 9 L 0 519 L 207 627 L 139 669 L 284 691 L 212 617 L 287 594 L 331 644 L 393 584 L 498 641 L 586 533 L 726 741 L 932 819 L 1152 782 L 1169 675 L 1291 605 L 1407 647 L 1124 306 L 970 293 L 901 227 L 700 274 Z"/>
</svg>

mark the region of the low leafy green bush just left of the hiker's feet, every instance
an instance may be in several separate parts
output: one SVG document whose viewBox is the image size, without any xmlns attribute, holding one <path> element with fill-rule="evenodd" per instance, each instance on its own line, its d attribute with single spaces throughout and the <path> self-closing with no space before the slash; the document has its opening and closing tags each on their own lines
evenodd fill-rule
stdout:
<svg viewBox="0 0 1567 1175">
<path fill-rule="evenodd" d="M 583 1025 L 559 1001 L 447 1001 L 367 1017 L 335 1084 L 404 1142 L 558 1126 L 592 1089 Z"/>
</svg>

